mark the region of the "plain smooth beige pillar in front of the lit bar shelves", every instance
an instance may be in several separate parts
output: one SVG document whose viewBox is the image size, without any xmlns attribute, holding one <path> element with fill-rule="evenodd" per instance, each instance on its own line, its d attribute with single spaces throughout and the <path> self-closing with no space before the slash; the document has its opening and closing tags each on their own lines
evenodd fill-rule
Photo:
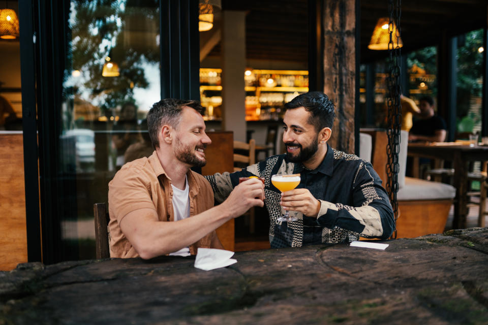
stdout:
<svg viewBox="0 0 488 325">
<path fill-rule="evenodd" d="M 222 127 L 246 141 L 246 13 L 222 12 Z"/>
</svg>

